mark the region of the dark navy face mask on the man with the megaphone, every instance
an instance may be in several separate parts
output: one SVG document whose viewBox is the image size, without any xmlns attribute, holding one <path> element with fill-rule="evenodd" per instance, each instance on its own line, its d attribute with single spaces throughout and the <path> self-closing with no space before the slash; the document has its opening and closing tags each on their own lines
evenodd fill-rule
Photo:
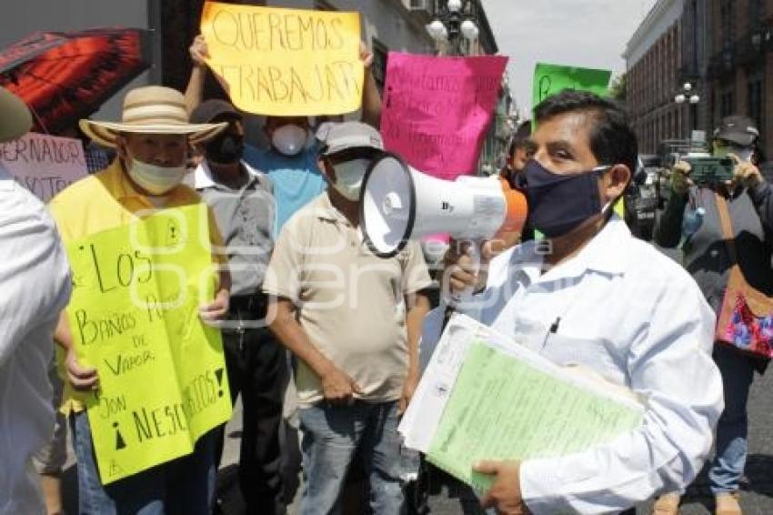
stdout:
<svg viewBox="0 0 773 515">
<path fill-rule="evenodd" d="M 546 237 L 561 237 L 601 213 L 598 177 L 609 168 L 596 167 L 564 176 L 529 160 L 520 181 L 528 202 L 527 227 L 536 228 Z"/>
</svg>

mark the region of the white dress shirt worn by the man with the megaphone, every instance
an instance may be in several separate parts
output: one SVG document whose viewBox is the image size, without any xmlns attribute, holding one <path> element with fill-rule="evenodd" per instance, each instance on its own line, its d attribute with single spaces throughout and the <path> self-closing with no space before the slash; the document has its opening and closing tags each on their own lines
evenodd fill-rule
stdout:
<svg viewBox="0 0 773 515">
<path fill-rule="evenodd" d="M 711 358 L 715 317 L 695 281 L 617 216 L 574 258 L 544 274 L 542 264 L 535 242 L 495 258 L 467 314 L 558 364 L 585 365 L 626 385 L 646 413 L 640 429 L 605 445 L 524 461 L 527 507 L 536 515 L 608 513 L 684 490 L 723 409 Z M 439 318 L 427 318 L 430 345 Z"/>
</svg>

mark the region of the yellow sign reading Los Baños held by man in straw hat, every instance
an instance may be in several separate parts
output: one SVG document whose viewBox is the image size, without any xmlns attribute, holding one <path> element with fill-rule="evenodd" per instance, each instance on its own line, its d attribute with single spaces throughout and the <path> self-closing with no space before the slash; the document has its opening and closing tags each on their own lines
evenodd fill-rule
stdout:
<svg viewBox="0 0 773 515">
<path fill-rule="evenodd" d="M 215 286 L 204 205 L 70 242 L 67 308 L 103 484 L 189 454 L 231 416 L 223 343 L 198 317 Z"/>
</svg>

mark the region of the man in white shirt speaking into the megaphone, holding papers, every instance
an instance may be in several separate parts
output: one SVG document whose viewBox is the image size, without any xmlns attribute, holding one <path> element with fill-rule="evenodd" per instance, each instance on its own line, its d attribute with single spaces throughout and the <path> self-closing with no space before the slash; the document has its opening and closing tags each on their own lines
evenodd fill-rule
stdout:
<svg viewBox="0 0 773 515">
<path fill-rule="evenodd" d="M 496 476 L 481 502 L 507 514 L 618 512 L 684 490 L 706 460 L 723 408 L 715 318 L 692 278 L 612 213 L 637 159 L 625 113 L 567 90 L 536 116 L 523 186 L 527 225 L 545 239 L 494 258 L 487 274 L 451 256 L 452 287 L 477 285 L 469 314 L 554 362 L 633 389 L 646 414 L 639 429 L 584 452 L 478 463 Z M 439 318 L 427 319 L 427 340 Z"/>
</svg>

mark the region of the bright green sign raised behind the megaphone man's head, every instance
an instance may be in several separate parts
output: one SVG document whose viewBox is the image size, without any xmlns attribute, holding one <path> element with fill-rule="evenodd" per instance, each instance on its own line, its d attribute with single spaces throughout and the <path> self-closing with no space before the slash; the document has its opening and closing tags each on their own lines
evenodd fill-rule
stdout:
<svg viewBox="0 0 773 515">
<path fill-rule="evenodd" d="M 531 108 L 534 109 L 548 96 L 556 95 L 567 88 L 607 96 L 611 76 L 612 72 L 609 70 L 537 63 L 534 69 Z"/>
</svg>

